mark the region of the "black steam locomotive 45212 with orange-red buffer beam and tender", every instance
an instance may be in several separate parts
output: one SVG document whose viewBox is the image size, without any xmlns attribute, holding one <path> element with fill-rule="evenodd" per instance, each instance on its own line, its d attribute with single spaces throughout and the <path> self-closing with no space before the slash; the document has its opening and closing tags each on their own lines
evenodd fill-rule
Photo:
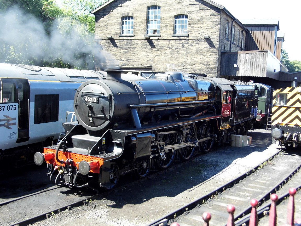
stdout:
<svg viewBox="0 0 301 226">
<path fill-rule="evenodd" d="M 120 175 L 145 177 L 175 158 L 209 152 L 256 121 L 254 88 L 241 81 L 170 71 L 124 80 L 121 70 L 106 72 L 103 80 L 77 89 L 79 123 L 64 124 L 67 135 L 34 156 L 37 165 L 48 163 L 57 185 L 88 187 L 94 181 L 110 190 Z"/>
</svg>

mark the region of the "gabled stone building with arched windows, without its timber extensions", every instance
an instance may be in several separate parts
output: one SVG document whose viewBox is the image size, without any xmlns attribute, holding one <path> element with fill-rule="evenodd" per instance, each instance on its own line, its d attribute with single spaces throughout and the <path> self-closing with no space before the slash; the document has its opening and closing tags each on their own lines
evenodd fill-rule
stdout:
<svg viewBox="0 0 301 226">
<path fill-rule="evenodd" d="M 216 77 L 221 53 L 243 51 L 249 32 L 209 0 L 109 0 L 92 13 L 104 64 L 115 62 L 132 73 L 183 71 Z M 104 64 L 98 61 L 96 70 Z"/>
</svg>

